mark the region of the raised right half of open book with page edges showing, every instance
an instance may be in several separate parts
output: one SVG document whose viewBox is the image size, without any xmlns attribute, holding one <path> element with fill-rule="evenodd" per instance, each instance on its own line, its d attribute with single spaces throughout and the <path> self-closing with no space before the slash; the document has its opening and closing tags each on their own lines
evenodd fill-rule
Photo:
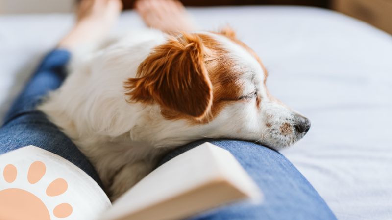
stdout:
<svg viewBox="0 0 392 220">
<path fill-rule="evenodd" d="M 155 169 L 99 220 L 176 220 L 228 202 L 261 198 L 235 157 L 206 142 Z"/>
</svg>

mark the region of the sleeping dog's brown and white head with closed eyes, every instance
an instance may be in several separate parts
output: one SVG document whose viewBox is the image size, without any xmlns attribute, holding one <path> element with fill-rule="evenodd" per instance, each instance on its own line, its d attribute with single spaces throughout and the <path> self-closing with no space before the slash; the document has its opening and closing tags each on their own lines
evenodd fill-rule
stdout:
<svg viewBox="0 0 392 220">
<path fill-rule="evenodd" d="M 274 149 L 293 144 L 307 118 L 274 98 L 259 57 L 231 29 L 182 33 L 153 49 L 125 82 L 130 102 L 158 104 L 165 120 L 188 120 L 210 137 L 258 141 Z"/>
</svg>

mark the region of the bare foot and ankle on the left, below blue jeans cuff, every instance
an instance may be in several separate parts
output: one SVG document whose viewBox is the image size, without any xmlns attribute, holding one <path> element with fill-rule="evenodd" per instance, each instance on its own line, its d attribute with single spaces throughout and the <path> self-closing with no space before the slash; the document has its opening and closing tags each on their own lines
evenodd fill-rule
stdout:
<svg viewBox="0 0 392 220">
<path fill-rule="evenodd" d="M 58 46 L 72 50 L 81 44 L 101 40 L 115 25 L 122 9 L 121 0 L 82 0 L 77 8 L 75 26 Z"/>
</svg>

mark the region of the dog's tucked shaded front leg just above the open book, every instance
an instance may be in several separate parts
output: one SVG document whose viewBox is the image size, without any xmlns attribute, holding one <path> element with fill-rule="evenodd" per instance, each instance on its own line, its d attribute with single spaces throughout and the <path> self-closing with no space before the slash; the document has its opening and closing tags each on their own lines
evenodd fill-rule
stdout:
<svg viewBox="0 0 392 220">
<path fill-rule="evenodd" d="M 139 161 L 125 165 L 114 177 L 110 186 L 110 199 L 119 198 L 125 191 L 134 186 L 154 168 L 154 164 L 147 161 Z"/>
</svg>

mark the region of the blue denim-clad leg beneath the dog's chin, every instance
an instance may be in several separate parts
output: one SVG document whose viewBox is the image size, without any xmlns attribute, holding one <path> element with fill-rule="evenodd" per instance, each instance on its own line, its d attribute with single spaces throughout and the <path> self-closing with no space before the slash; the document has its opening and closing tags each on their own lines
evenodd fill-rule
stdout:
<svg viewBox="0 0 392 220">
<path fill-rule="evenodd" d="M 260 204 L 237 203 L 191 220 L 336 220 L 312 185 L 282 154 L 236 140 L 201 140 L 175 149 L 160 164 L 208 141 L 230 151 L 264 194 Z"/>
</svg>

